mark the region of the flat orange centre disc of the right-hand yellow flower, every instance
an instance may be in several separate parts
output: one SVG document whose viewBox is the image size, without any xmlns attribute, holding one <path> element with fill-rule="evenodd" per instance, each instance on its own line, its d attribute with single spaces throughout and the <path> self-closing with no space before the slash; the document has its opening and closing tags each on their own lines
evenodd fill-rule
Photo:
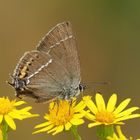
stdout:
<svg viewBox="0 0 140 140">
<path fill-rule="evenodd" d="M 112 112 L 102 111 L 96 114 L 96 120 L 102 123 L 112 123 L 115 117 Z"/>
</svg>

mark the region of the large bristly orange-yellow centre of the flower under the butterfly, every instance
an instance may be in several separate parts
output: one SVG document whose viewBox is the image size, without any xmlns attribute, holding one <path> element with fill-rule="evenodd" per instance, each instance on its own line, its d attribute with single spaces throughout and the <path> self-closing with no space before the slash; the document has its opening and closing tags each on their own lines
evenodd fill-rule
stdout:
<svg viewBox="0 0 140 140">
<path fill-rule="evenodd" d="M 74 109 L 69 101 L 60 101 L 58 104 L 54 103 L 50 108 L 49 119 L 54 125 L 64 125 L 71 120 L 74 114 Z"/>
</svg>

